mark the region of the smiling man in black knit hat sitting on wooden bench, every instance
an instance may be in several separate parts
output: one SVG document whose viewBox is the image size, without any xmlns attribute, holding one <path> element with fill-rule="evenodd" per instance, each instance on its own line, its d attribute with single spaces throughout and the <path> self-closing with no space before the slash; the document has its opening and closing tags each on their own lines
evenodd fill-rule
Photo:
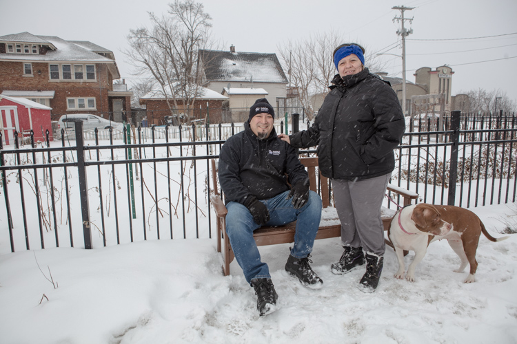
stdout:
<svg viewBox="0 0 517 344">
<path fill-rule="evenodd" d="M 285 270 L 304 286 L 323 286 L 309 265 L 321 219 L 321 198 L 309 190 L 307 171 L 296 151 L 276 136 L 273 124 L 273 107 L 265 98 L 256 100 L 244 131 L 230 137 L 219 155 L 219 183 L 228 211 L 226 233 L 246 281 L 255 290 L 260 315 L 276 310 L 278 297 L 253 238 L 253 231 L 263 225 L 297 220 Z"/>
</svg>

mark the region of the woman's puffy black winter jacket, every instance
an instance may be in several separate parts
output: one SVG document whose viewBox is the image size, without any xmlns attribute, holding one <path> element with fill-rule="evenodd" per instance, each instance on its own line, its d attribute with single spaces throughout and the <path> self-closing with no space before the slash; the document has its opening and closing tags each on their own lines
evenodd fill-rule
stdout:
<svg viewBox="0 0 517 344">
<path fill-rule="evenodd" d="M 367 68 L 336 75 L 332 83 L 314 125 L 290 136 L 292 146 L 318 145 L 319 167 L 327 178 L 360 180 L 392 172 L 405 121 L 389 83 Z"/>
</svg>

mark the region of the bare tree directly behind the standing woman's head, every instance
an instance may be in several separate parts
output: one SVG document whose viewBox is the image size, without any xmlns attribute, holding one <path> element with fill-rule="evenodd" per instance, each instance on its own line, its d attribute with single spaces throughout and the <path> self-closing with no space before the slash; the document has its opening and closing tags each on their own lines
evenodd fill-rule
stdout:
<svg viewBox="0 0 517 344">
<path fill-rule="evenodd" d="M 309 120 L 314 118 L 314 113 L 318 110 L 314 108 L 313 96 L 325 96 L 329 92 L 328 87 L 332 78 L 337 74 L 332 52 L 338 45 L 346 42 L 344 34 L 330 30 L 311 34 L 301 41 L 287 41 L 278 46 L 281 63 L 288 71 L 290 87 L 298 91 L 299 101 L 305 108 Z M 383 67 L 376 55 L 367 53 L 365 62 L 371 72 L 381 71 Z"/>
</svg>

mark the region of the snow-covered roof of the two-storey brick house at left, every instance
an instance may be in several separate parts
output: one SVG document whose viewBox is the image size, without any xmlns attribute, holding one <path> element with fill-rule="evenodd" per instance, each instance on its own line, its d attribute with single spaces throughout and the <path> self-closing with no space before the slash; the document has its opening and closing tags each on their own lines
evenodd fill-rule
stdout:
<svg viewBox="0 0 517 344">
<path fill-rule="evenodd" d="M 0 61 L 108 63 L 113 78 L 120 78 L 113 52 L 91 42 L 65 41 L 57 36 L 35 36 L 29 32 L 0 36 L 0 42 L 34 43 L 49 48 L 45 54 L 0 54 Z"/>
</svg>

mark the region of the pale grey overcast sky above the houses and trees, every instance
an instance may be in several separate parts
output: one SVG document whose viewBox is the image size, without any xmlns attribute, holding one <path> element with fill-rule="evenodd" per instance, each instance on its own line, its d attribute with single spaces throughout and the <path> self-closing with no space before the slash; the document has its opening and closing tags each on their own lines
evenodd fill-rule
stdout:
<svg viewBox="0 0 517 344">
<path fill-rule="evenodd" d="M 167 0 L 0 0 L 0 36 L 19 32 L 91 41 L 115 54 L 126 83 L 134 79 L 121 53 L 129 30 L 149 24 L 148 12 L 162 14 Z M 277 52 L 288 40 L 340 30 L 369 52 L 401 55 L 394 6 L 413 7 L 406 28 L 407 80 L 419 67 L 449 65 L 452 94 L 500 89 L 517 100 L 516 0 L 201 0 L 216 39 L 237 52 Z M 491 36 L 491 37 L 487 37 Z M 486 38 L 478 38 L 486 37 Z M 399 41 L 399 44 L 397 44 Z M 385 72 L 402 76 L 402 59 L 383 56 Z"/>
</svg>

